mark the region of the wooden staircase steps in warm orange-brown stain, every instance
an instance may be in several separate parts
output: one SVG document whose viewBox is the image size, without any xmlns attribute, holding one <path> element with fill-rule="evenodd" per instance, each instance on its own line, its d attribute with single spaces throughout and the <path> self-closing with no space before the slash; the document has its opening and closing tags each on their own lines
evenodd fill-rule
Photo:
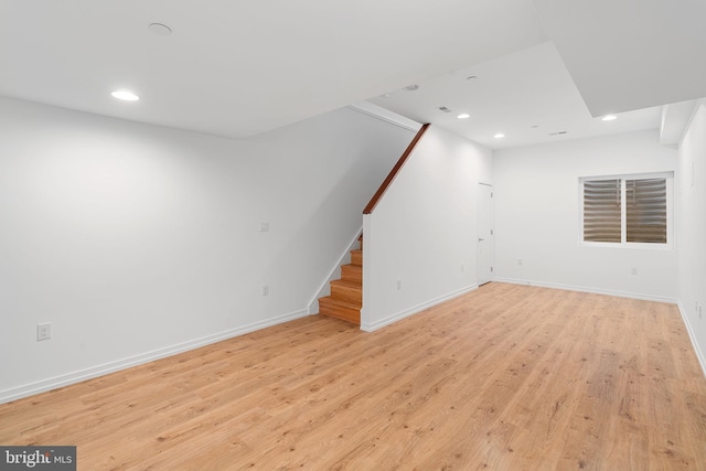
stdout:
<svg viewBox="0 0 706 471">
<path fill-rule="evenodd" d="M 341 279 L 331 281 L 331 296 L 319 298 L 319 313 L 361 324 L 363 307 L 363 236 L 359 249 L 351 250 L 351 263 L 341 265 Z"/>
</svg>

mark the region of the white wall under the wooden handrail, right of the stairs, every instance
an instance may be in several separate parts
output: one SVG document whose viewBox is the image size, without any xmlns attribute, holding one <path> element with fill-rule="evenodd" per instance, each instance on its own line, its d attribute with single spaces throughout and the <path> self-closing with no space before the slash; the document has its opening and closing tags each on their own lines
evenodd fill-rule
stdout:
<svg viewBox="0 0 706 471">
<path fill-rule="evenodd" d="M 491 165 L 490 150 L 427 130 L 364 220 L 363 330 L 477 287 L 477 186 L 490 183 Z"/>
</svg>

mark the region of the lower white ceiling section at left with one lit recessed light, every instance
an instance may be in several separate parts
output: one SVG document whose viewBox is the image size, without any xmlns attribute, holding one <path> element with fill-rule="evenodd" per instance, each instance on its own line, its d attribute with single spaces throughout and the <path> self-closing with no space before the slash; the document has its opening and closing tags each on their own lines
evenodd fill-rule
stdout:
<svg viewBox="0 0 706 471">
<path fill-rule="evenodd" d="M 0 0 L 0 95 L 239 138 L 546 39 L 528 0 Z"/>
</svg>

